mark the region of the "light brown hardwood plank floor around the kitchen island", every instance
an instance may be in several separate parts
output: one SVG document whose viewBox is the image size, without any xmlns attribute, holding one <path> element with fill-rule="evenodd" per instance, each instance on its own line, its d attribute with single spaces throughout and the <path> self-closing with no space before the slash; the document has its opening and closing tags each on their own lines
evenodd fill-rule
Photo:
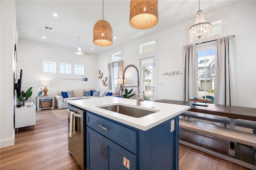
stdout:
<svg viewBox="0 0 256 170">
<path fill-rule="evenodd" d="M 180 145 L 180 170 L 247 170 L 242 166 Z M 36 125 L 19 128 L 15 145 L 0 150 L 1 170 L 81 170 L 68 154 L 68 121 L 51 110 L 36 112 Z"/>
</svg>

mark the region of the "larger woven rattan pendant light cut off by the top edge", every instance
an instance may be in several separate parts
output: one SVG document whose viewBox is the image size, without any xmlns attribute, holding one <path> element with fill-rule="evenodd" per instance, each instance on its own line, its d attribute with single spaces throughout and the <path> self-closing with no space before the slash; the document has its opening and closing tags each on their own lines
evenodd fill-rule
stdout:
<svg viewBox="0 0 256 170">
<path fill-rule="evenodd" d="M 136 29 L 148 29 L 158 23 L 158 0 L 131 0 L 130 25 Z"/>
</svg>

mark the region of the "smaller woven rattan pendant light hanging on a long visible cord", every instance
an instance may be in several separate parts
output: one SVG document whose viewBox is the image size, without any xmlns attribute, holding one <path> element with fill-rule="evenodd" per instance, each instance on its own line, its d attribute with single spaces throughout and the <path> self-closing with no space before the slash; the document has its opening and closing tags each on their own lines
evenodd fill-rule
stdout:
<svg viewBox="0 0 256 170">
<path fill-rule="evenodd" d="M 102 20 L 98 20 L 93 27 L 93 43 L 101 47 L 112 45 L 112 27 L 103 20 L 104 1 L 102 0 Z"/>
</svg>

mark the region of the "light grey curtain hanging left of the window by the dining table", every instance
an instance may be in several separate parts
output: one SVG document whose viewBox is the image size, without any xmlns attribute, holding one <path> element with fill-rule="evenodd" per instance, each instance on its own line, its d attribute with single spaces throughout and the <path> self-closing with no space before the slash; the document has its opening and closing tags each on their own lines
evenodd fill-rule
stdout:
<svg viewBox="0 0 256 170">
<path fill-rule="evenodd" d="M 198 96 L 196 45 L 184 46 L 184 101 Z"/>
</svg>

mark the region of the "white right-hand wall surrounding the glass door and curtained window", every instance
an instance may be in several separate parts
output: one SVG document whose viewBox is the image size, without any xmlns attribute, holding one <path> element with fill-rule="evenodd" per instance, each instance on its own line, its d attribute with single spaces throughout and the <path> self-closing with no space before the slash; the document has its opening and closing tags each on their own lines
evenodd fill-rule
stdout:
<svg viewBox="0 0 256 170">
<path fill-rule="evenodd" d="M 246 9 L 242 10 L 241 9 Z M 206 21 L 222 19 L 222 35 L 206 41 L 227 35 L 235 35 L 235 66 L 236 66 L 236 102 L 237 106 L 256 107 L 256 1 L 238 2 L 227 8 L 204 14 Z M 195 20 L 195 19 L 194 19 Z M 124 66 L 135 64 L 139 68 L 139 45 L 157 37 L 157 96 L 158 99 L 183 100 L 183 76 L 162 76 L 164 72 L 181 70 L 183 72 L 183 46 L 190 44 L 188 28 L 194 24 L 190 20 L 164 31 L 160 31 L 138 41 L 122 45 L 122 60 Z M 203 42 L 203 41 L 202 41 Z M 195 42 L 193 42 L 195 43 Z M 196 42 L 198 43 L 198 42 Z M 111 55 L 118 49 L 98 55 L 98 68 L 108 71 L 106 63 L 111 62 Z M 134 75 L 130 75 L 133 74 Z M 128 79 L 136 84 L 135 72 L 128 72 Z M 100 81 L 97 81 L 98 85 Z M 159 85 L 162 84 L 162 85 Z"/>
</svg>

